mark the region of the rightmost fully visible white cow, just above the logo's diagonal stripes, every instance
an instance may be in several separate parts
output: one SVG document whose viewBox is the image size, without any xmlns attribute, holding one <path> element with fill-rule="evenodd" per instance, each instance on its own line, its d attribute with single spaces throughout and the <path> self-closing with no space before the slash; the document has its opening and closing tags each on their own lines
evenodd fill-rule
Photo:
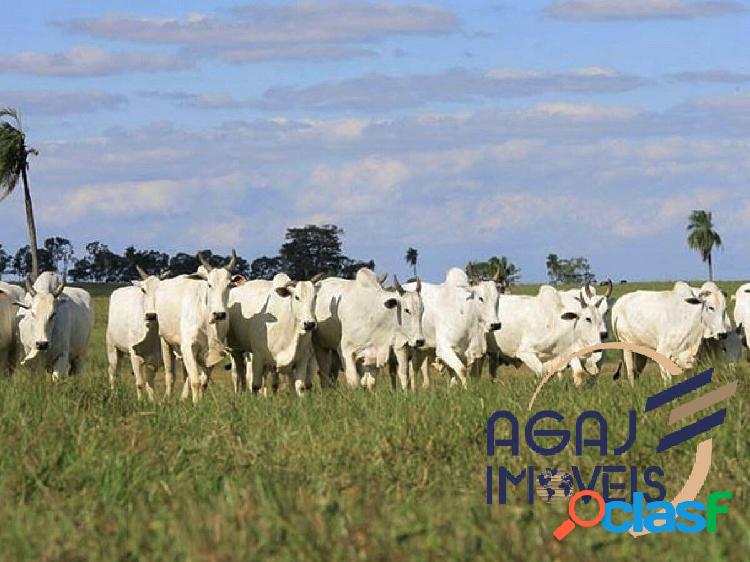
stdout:
<svg viewBox="0 0 750 562">
<path fill-rule="evenodd" d="M 725 338 L 732 326 L 726 299 L 713 282 L 700 289 L 677 282 L 670 291 L 635 291 L 612 307 L 612 331 L 620 341 L 643 345 L 669 357 L 682 369 L 695 363 L 704 338 Z M 628 380 L 643 370 L 646 358 L 623 351 Z M 671 375 L 660 367 L 665 382 Z"/>
</svg>

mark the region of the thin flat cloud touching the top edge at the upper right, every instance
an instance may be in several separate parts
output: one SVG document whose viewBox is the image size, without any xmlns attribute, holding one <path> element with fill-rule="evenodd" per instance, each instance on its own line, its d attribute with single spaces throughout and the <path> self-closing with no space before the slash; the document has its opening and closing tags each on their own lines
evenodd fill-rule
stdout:
<svg viewBox="0 0 750 562">
<path fill-rule="evenodd" d="M 745 6 L 730 0 L 558 0 L 547 15 L 562 20 L 692 19 L 739 14 Z"/>
</svg>

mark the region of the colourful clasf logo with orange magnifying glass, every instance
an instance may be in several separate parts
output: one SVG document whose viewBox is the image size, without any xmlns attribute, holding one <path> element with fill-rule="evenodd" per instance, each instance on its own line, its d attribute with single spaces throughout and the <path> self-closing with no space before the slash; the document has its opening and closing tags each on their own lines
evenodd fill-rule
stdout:
<svg viewBox="0 0 750 562">
<path fill-rule="evenodd" d="M 593 519 L 581 519 L 576 513 L 578 500 L 585 497 L 597 503 L 598 511 Z M 558 541 L 562 541 L 577 526 L 588 528 L 599 523 L 610 533 L 642 533 L 644 529 L 651 533 L 699 533 L 703 530 L 715 533 L 718 515 L 729 513 L 729 507 L 721 505 L 719 501 L 731 497 L 732 492 L 713 492 L 705 504 L 698 501 L 684 501 L 677 505 L 663 501 L 647 504 L 643 494 L 636 492 L 633 494 L 633 503 L 630 504 L 624 501 L 605 502 L 597 492 L 582 490 L 570 498 L 569 519 L 563 521 L 553 535 Z M 615 523 L 613 515 L 618 511 L 623 517 L 619 523 Z"/>
</svg>

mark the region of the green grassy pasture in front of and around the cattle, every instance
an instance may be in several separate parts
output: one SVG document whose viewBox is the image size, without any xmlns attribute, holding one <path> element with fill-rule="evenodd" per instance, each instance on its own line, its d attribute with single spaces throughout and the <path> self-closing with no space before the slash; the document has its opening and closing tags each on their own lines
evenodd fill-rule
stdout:
<svg viewBox="0 0 750 562">
<path fill-rule="evenodd" d="M 730 294 L 739 283 L 720 283 Z M 648 288 L 667 288 L 671 283 Z M 623 291 L 647 285 L 615 285 Z M 533 286 L 516 292 L 533 292 Z M 110 391 L 104 328 L 108 288 L 97 287 L 87 368 L 59 384 L 19 369 L 0 379 L 1 560 L 747 560 L 750 552 L 750 363 L 724 425 L 713 433 L 714 461 L 700 500 L 731 491 L 717 533 L 631 539 L 600 527 L 552 538 L 565 503 L 533 507 L 524 492 L 486 505 L 488 464 L 550 465 L 485 454 L 486 421 L 498 409 L 520 420 L 536 385 L 530 372 L 503 368 L 466 391 L 436 375 L 427 391 L 394 392 L 381 376 L 373 393 L 344 385 L 297 399 L 235 396 L 214 373 L 197 405 L 139 403 L 129 372 Z M 570 377 L 545 386 L 534 409 L 554 408 L 567 427 L 585 409 L 609 421 L 610 442 L 625 440 L 626 414 L 662 388 L 653 366 L 631 389 L 613 381 L 609 357 L 595 383 Z M 158 379 L 161 383 L 161 377 Z M 159 395 L 162 388 L 158 386 Z M 179 394 L 179 393 L 178 393 Z M 639 417 L 635 447 L 622 458 L 572 448 L 554 464 L 665 469 L 668 496 L 690 471 L 690 447 L 657 455 L 666 415 Z M 612 445 L 610 445 L 610 448 Z"/>
</svg>

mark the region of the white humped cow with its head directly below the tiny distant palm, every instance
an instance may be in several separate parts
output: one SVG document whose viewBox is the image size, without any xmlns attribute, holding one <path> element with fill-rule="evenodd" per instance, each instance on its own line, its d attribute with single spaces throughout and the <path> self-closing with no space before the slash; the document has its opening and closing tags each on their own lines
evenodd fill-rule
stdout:
<svg viewBox="0 0 750 562">
<path fill-rule="evenodd" d="M 333 378 L 338 359 L 350 386 L 372 388 L 377 369 L 393 354 L 401 386 L 408 388 L 407 348 L 424 344 L 420 288 L 419 282 L 414 290 L 396 282 L 395 290 L 383 289 L 366 268 L 355 280 L 321 281 L 315 304 L 318 327 L 313 332 L 321 383 Z"/>
</svg>

